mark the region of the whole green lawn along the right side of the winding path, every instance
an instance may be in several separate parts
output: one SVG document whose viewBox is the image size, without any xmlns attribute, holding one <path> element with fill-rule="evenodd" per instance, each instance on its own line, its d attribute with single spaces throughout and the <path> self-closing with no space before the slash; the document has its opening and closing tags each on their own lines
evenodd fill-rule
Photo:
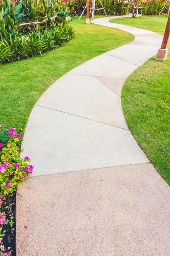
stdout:
<svg viewBox="0 0 170 256">
<path fill-rule="evenodd" d="M 167 15 L 120 18 L 114 22 L 163 35 Z M 122 108 L 136 141 L 170 185 L 170 53 L 164 62 L 151 58 L 127 78 Z"/>
</svg>

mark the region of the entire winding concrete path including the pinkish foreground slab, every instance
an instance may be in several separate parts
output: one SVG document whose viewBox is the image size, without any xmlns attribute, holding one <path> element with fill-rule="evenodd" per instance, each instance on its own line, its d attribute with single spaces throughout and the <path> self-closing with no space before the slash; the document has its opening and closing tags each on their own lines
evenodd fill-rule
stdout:
<svg viewBox="0 0 170 256">
<path fill-rule="evenodd" d="M 128 130 L 120 98 L 162 36 L 113 18 L 93 23 L 135 40 L 62 76 L 28 120 L 23 155 L 35 170 L 17 190 L 17 256 L 170 255 L 170 187 Z"/>
</svg>

